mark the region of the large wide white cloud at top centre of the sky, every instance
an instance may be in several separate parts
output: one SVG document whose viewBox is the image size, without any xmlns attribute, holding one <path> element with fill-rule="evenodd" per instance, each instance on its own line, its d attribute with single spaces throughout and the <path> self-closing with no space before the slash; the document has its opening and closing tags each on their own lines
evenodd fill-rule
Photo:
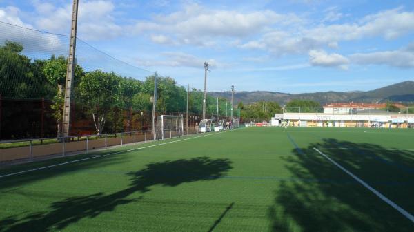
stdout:
<svg viewBox="0 0 414 232">
<path fill-rule="evenodd" d="M 264 32 L 272 25 L 291 25 L 302 19 L 295 14 L 277 14 L 271 10 L 237 12 L 210 10 L 198 4 L 184 6 L 181 11 L 156 15 L 152 21 L 139 21 L 135 33 L 163 33 L 177 44 L 208 45 L 201 42 L 217 38 L 246 38 Z M 163 42 L 166 39 L 162 40 Z"/>
</svg>

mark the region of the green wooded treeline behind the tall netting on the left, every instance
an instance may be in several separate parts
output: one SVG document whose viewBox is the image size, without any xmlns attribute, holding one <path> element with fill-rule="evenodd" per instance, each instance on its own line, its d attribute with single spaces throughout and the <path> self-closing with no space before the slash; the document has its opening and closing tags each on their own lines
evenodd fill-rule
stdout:
<svg viewBox="0 0 414 232">
<path fill-rule="evenodd" d="M 8 101 L 8 104 L 3 104 L 3 109 L 0 105 L 0 121 L 3 125 L 0 131 L 5 125 L 54 123 L 55 135 L 59 136 L 63 112 L 63 89 L 66 80 L 66 57 L 51 56 L 50 59 L 30 59 L 23 54 L 23 51 L 23 45 L 20 43 L 6 41 L 0 45 L 0 101 L 5 103 Z M 72 122 L 75 126 L 83 125 L 87 128 L 78 129 L 74 133 L 101 134 L 148 129 L 153 92 L 154 75 L 148 75 L 144 81 L 140 81 L 115 72 L 103 70 L 86 72 L 81 65 L 77 65 L 72 101 L 74 103 Z M 19 103 L 16 102 L 17 100 Z M 28 101 L 23 104 L 26 105 L 23 107 L 24 110 L 21 107 L 23 100 Z M 28 115 L 31 114 L 30 111 L 32 114 L 39 113 L 37 109 L 41 101 L 43 105 L 44 101 L 47 103 L 46 109 L 43 109 L 44 112 L 41 111 L 42 117 L 46 117 L 46 122 L 42 121 L 42 123 L 32 121 L 33 115 Z M 157 114 L 185 114 L 186 101 L 187 89 L 185 87 L 177 85 L 176 81 L 169 76 L 159 76 Z M 191 89 L 189 112 L 193 115 L 193 120 L 199 120 L 197 115 L 201 114 L 202 101 L 202 92 L 198 89 Z M 36 106 L 30 106 L 30 103 Z M 13 107 L 16 104 L 20 104 L 20 107 Z M 7 108 L 5 108 L 6 105 Z M 230 104 L 228 104 L 229 110 Z M 217 114 L 216 99 L 213 97 L 207 99 L 206 114 L 209 116 Z M 219 114 L 220 116 L 226 114 L 225 102 L 222 100 L 219 101 Z M 16 117 L 17 115 L 19 117 Z M 26 134 L 10 132 L 8 136 L 3 133 L 3 138 L 33 136 L 30 132 L 32 129 L 28 128 L 27 131 Z"/>
</svg>

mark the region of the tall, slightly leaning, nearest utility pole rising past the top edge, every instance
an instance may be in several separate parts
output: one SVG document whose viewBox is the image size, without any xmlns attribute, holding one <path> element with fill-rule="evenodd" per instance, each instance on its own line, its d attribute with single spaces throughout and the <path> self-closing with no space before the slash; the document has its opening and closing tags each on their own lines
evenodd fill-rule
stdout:
<svg viewBox="0 0 414 232">
<path fill-rule="evenodd" d="M 72 25 L 70 28 L 70 45 L 68 56 L 68 67 L 66 70 L 65 102 L 63 103 L 63 137 L 70 136 L 70 100 L 72 98 L 73 78 L 75 77 L 75 51 L 76 51 L 76 32 L 77 14 L 79 0 L 73 0 L 72 6 Z M 59 135 L 62 136 L 62 135 Z"/>
</svg>

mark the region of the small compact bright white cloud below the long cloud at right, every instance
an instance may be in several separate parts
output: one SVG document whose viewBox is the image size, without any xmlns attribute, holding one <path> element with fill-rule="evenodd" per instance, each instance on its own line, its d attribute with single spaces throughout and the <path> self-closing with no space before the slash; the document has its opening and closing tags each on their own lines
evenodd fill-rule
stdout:
<svg viewBox="0 0 414 232">
<path fill-rule="evenodd" d="M 344 70 L 348 68 L 349 60 L 340 54 L 327 54 L 322 50 L 311 50 L 309 56 L 309 61 L 314 66 L 339 67 Z"/>
</svg>

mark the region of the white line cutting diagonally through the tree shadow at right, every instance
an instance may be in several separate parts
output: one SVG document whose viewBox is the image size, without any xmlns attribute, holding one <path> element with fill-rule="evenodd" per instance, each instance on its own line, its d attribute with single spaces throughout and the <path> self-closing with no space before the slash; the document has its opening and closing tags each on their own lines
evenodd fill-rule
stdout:
<svg viewBox="0 0 414 232">
<path fill-rule="evenodd" d="M 388 198 L 386 198 L 386 196 L 382 195 L 382 193 L 380 193 L 379 191 L 377 191 L 376 189 L 371 187 L 369 184 L 364 182 L 364 180 L 359 179 L 357 176 L 355 176 L 353 173 L 351 173 L 351 171 L 348 171 L 347 169 L 345 169 L 344 167 L 339 165 L 337 162 L 335 162 L 334 160 L 332 160 L 331 158 L 329 158 L 328 156 L 323 154 L 322 151 L 319 151 L 316 147 L 313 147 L 313 149 L 315 149 L 315 151 L 317 151 L 319 154 L 324 156 L 327 160 L 331 161 L 334 165 L 339 167 L 339 169 L 342 169 L 342 171 L 344 171 L 349 176 L 351 176 L 352 178 L 357 180 L 357 182 L 359 182 L 359 184 L 364 185 L 364 187 L 366 187 L 367 189 L 372 191 L 375 195 L 377 195 L 377 197 L 381 198 L 381 200 L 384 200 L 384 202 L 391 205 L 391 207 L 393 207 L 394 209 L 397 209 L 397 211 L 399 211 L 402 215 L 404 215 L 406 218 L 408 218 L 408 220 L 411 220 L 411 222 L 414 222 L 414 216 L 411 215 L 411 213 L 408 213 L 405 209 L 402 209 L 400 206 L 398 206 L 398 204 L 395 204 L 392 200 L 389 200 Z"/>
</svg>

